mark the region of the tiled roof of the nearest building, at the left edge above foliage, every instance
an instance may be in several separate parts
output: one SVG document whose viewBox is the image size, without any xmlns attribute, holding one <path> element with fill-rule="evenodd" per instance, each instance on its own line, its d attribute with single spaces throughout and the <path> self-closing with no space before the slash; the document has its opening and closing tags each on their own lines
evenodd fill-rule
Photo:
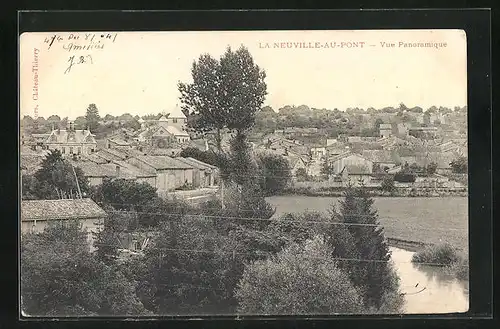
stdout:
<svg viewBox="0 0 500 329">
<path fill-rule="evenodd" d="M 23 200 L 21 220 L 87 219 L 105 217 L 92 199 L 65 200 Z"/>
</svg>

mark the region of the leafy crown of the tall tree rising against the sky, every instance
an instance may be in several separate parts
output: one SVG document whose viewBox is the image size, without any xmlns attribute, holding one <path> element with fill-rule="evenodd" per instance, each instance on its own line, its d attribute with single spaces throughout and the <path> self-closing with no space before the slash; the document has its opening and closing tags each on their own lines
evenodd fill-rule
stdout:
<svg viewBox="0 0 500 329">
<path fill-rule="evenodd" d="M 221 150 L 223 128 L 244 131 L 253 126 L 255 113 L 266 96 L 265 72 L 245 47 L 227 48 L 220 60 L 203 54 L 193 63 L 193 82 L 179 83 L 182 109 L 196 117 L 195 131 L 215 131 Z"/>
</svg>

